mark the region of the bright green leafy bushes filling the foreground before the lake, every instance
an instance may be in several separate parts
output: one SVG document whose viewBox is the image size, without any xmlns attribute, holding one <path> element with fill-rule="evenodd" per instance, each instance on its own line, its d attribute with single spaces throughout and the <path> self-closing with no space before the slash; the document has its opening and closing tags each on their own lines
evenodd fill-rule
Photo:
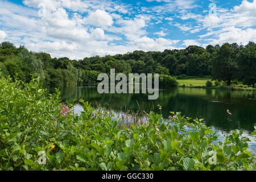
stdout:
<svg viewBox="0 0 256 182">
<path fill-rule="evenodd" d="M 1 77 L 0 94 L 2 170 L 256 169 L 242 131 L 216 142 L 203 119 L 172 113 L 163 121 L 150 112 L 148 125 L 127 128 L 82 100 L 80 116 L 64 114 L 58 90 L 47 96 L 39 78 L 24 84 Z"/>
</svg>

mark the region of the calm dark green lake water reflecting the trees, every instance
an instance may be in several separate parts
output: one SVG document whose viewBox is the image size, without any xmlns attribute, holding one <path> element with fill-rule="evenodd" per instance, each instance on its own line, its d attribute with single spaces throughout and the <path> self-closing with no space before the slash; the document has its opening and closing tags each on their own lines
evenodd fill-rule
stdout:
<svg viewBox="0 0 256 182">
<path fill-rule="evenodd" d="M 231 130 L 242 129 L 250 134 L 256 123 L 256 92 L 232 90 L 171 88 L 160 89 L 158 100 L 148 100 L 147 94 L 99 94 L 97 86 L 77 86 L 61 89 L 63 101 L 80 98 L 101 104 L 114 111 L 145 109 L 159 113 L 158 105 L 162 106 L 164 118 L 170 111 L 181 111 L 181 115 L 191 118 L 204 118 L 206 126 L 212 126 L 220 134 Z M 232 113 L 228 114 L 226 110 Z M 79 113 L 81 106 L 76 105 L 75 112 Z M 254 138 L 250 138 L 250 150 L 256 153 Z"/>
</svg>

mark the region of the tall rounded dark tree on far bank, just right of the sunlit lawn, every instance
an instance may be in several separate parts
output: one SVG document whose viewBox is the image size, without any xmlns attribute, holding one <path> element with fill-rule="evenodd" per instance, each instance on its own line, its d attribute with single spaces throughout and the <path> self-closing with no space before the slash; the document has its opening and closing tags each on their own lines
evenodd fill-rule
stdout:
<svg viewBox="0 0 256 182">
<path fill-rule="evenodd" d="M 224 43 L 217 49 L 217 55 L 212 61 L 213 79 L 226 81 L 230 85 L 236 77 L 237 69 L 237 54 L 231 44 Z"/>
</svg>

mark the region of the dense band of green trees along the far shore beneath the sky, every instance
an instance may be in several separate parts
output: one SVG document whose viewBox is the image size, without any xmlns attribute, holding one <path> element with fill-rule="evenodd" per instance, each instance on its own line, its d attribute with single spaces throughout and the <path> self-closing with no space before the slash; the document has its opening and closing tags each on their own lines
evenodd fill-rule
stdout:
<svg viewBox="0 0 256 182">
<path fill-rule="evenodd" d="M 159 73 L 164 77 L 210 76 L 230 85 L 233 80 L 255 86 L 256 44 L 246 46 L 224 43 L 222 46 L 188 46 L 185 49 L 134 51 L 124 55 L 93 56 L 82 60 L 52 58 L 48 53 L 31 52 L 13 43 L 0 44 L 0 69 L 3 76 L 31 81 L 36 73 L 44 86 L 65 86 L 97 82 L 99 73 Z M 168 86 L 168 85 L 167 85 Z"/>
</svg>

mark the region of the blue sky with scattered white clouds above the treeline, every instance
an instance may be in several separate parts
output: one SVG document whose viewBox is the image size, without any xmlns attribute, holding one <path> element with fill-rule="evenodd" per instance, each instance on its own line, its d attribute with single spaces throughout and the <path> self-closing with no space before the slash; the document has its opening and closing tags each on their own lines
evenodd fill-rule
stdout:
<svg viewBox="0 0 256 182">
<path fill-rule="evenodd" d="M 0 0 L 0 42 L 52 57 L 256 42 L 256 0 Z"/>
</svg>

